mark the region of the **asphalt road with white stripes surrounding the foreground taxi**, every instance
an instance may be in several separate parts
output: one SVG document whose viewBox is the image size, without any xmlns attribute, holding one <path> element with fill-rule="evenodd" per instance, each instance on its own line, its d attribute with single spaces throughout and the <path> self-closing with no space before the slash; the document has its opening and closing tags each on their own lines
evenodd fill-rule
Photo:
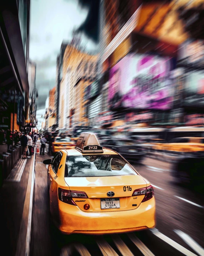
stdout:
<svg viewBox="0 0 204 256">
<path fill-rule="evenodd" d="M 50 224 L 47 169 L 42 163 L 47 158 L 47 154 L 36 154 L 31 256 L 204 255 L 203 199 L 175 182 L 170 163 L 151 158 L 144 159 L 142 164 L 133 163 L 154 187 L 156 226 L 153 230 L 62 236 Z"/>
</svg>

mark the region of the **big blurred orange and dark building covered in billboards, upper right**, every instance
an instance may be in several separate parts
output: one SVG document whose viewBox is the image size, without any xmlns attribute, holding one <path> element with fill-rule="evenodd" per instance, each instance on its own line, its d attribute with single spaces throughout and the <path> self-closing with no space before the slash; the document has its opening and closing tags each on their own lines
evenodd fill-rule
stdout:
<svg viewBox="0 0 204 256">
<path fill-rule="evenodd" d="M 203 73 L 187 74 L 186 55 L 179 55 L 191 39 L 194 56 L 199 51 L 203 58 L 202 33 L 197 29 L 202 27 L 203 1 L 187 2 L 100 2 L 100 124 L 114 127 L 121 120 L 129 125 L 180 126 L 190 124 L 187 113 L 197 113 L 193 117 L 201 120 Z M 195 83 L 197 93 L 192 89 Z M 189 105 L 192 94 L 197 103 Z"/>
</svg>

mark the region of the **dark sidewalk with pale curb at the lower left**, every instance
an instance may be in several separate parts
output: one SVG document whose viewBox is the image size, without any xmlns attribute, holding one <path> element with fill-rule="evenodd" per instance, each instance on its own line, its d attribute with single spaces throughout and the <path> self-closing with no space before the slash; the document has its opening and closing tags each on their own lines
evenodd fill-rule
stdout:
<svg viewBox="0 0 204 256">
<path fill-rule="evenodd" d="M 4 184 L 0 190 L 0 217 L 1 217 L 1 243 L 5 255 L 16 255 L 19 232 L 22 229 L 22 222 L 27 223 L 27 216 L 23 216 L 27 205 L 26 197 L 30 189 L 30 175 L 34 166 L 35 155 L 28 159 L 19 159 L 12 169 L 9 177 L 4 180 Z M 26 203 L 26 206 L 25 206 Z M 24 213 L 25 215 L 25 213 Z M 27 229 L 24 225 L 23 237 L 26 237 Z M 22 230 L 21 230 L 22 231 Z M 23 239 L 24 240 L 24 239 Z M 20 241 L 21 246 L 25 246 L 25 241 Z M 19 247 L 19 246 L 18 246 Z M 22 250 L 23 252 L 23 250 Z M 24 252 L 25 255 L 25 252 Z"/>
</svg>

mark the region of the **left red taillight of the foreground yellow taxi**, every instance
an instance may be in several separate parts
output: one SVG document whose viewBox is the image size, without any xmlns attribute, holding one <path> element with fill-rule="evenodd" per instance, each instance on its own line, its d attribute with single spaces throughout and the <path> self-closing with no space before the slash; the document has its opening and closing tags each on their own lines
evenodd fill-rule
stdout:
<svg viewBox="0 0 204 256">
<path fill-rule="evenodd" d="M 76 203 L 73 201 L 72 197 L 88 198 L 85 192 L 58 188 L 58 198 L 60 199 L 60 201 L 76 206 Z"/>
</svg>

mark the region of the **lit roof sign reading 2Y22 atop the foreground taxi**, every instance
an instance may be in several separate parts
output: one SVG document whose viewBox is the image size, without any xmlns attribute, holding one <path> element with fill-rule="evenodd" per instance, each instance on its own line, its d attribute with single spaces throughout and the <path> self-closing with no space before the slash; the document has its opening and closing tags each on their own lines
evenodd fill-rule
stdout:
<svg viewBox="0 0 204 256">
<path fill-rule="evenodd" d="M 82 133 L 78 138 L 75 149 L 81 153 L 103 153 L 103 147 L 94 133 Z"/>
</svg>

